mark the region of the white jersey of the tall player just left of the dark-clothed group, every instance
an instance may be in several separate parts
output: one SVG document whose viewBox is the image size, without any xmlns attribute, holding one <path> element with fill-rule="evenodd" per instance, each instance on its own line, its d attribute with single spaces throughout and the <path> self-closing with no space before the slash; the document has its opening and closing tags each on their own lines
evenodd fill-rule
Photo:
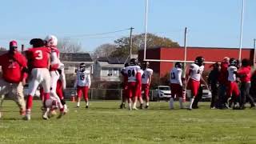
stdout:
<svg viewBox="0 0 256 144">
<path fill-rule="evenodd" d="M 192 63 L 190 65 L 190 78 L 194 79 L 195 81 L 200 81 L 201 76 L 202 76 L 202 71 L 204 70 L 205 66 L 198 66 L 195 63 Z"/>
</svg>

